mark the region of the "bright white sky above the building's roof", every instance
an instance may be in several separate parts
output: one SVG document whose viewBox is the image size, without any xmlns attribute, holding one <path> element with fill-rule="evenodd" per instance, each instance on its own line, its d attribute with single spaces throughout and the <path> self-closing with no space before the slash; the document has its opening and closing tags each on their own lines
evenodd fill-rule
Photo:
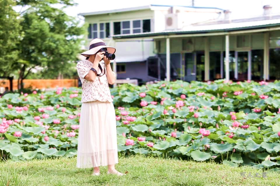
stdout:
<svg viewBox="0 0 280 186">
<path fill-rule="evenodd" d="M 78 5 L 65 9 L 66 13 L 73 17 L 78 17 L 83 22 L 83 16 L 79 13 L 95 12 L 102 10 L 114 10 L 120 8 L 129 8 L 145 6 L 150 4 L 157 5 L 174 5 L 174 6 L 192 6 L 192 0 L 177 0 L 171 4 L 171 0 L 74 0 Z M 262 15 L 263 6 L 271 5 L 273 13 L 280 13 L 280 0 L 193 0 L 194 6 L 198 7 L 215 7 L 232 12 L 232 18 L 251 17 Z"/>
</svg>

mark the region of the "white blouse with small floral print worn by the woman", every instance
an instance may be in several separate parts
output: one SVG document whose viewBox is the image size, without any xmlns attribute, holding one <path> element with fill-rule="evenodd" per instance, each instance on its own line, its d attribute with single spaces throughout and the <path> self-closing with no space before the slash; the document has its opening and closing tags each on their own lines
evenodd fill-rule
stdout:
<svg viewBox="0 0 280 186">
<path fill-rule="evenodd" d="M 102 73 L 99 68 L 97 68 L 97 73 L 101 75 L 104 73 L 105 63 L 99 62 L 102 67 Z M 89 60 L 79 61 L 76 65 L 78 76 L 82 83 L 82 99 L 81 102 L 90 101 L 102 101 L 102 102 L 113 102 L 111 97 L 111 92 L 107 80 L 107 71 L 103 76 L 96 76 L 94 81 L 88 81 L 84 77 L 89 73 L 92 68 L 92 62 Z M 115 72 L 113 72 L 115 75 Z M 116 76 L 116 75 L 115 75 Z"/>
</svg>

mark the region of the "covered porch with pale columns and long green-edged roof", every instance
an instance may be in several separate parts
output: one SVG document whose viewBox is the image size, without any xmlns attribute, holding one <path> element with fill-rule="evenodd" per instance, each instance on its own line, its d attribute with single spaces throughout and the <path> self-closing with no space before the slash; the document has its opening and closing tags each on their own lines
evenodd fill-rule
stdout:
<svg viewBox="0 0 280 186">
<path fill-rule="evenodd" d="M 158 80 L 280 79 L 280 27 L 275 24 L 114 37 L 115 42 L 136 39 L 153 39 L 156 56 L 148 59 L 148 75 Z"/>
</svg>

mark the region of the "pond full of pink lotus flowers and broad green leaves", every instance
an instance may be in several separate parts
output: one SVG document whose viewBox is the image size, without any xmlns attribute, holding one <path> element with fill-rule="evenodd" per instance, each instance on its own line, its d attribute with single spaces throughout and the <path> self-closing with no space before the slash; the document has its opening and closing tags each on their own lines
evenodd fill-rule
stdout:
<svg viewBox="0 0 280 186">
<path fill-rule="evenodd" d="M 280 167 L 280 82 L 119 85 L 118 151 L 233 167 Z M 15 161 L 77 153 L 81 89 L 0 98 L 0 157 Z"/>
</svg>

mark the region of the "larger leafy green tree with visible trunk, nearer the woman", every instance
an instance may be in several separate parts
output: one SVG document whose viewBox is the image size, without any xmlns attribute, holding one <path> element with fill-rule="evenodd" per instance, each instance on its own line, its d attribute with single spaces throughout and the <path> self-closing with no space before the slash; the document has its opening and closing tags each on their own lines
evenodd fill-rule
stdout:
<svg viewBox="0 0 280 186">
<path fill-rule="evenodd" d="M 71 0 L 18 0 L 17 5 L 24 9 L 20 12 L 20 26 L 23 37 L 17 45 L 20 52 L 15 62 L 19 69 L 18 89 L 23 88 L 25 79 L 34 67 L 43 71 L 67 71 L 67 65 L 78 60 L 81 52 L 81 39 L 85 27 L 66 15 L 63 8 L 54 5 L 74 5 Z"/>
</svg>

